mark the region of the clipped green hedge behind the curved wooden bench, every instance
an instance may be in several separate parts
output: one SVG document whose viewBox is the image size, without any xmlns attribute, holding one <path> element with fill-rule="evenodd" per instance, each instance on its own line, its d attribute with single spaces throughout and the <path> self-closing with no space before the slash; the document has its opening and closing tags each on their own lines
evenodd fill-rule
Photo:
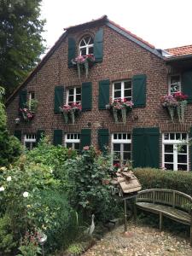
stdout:
<svg viewBox="0 0 192 256">
<path fill-rule="evenodd" d="M 134 173 L 142 189 L 174 189 L 192 196 L 192 172 L 136 168 Z"/>
</svg>

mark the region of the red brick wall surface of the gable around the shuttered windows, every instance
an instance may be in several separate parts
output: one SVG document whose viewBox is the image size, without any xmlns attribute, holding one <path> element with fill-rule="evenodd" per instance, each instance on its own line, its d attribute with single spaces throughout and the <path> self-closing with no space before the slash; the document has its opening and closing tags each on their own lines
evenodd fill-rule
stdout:
<svg viewBox="0 0 192 256">
<path fill-rule="evenodd" d="M 35 91 L 38 99 L 38 112 L 32 122 L 15 125 L 18 117 L 19 96 L 9 103 L 7 108 L 8 123 L 11 132 L 15 129 L 23 133 L 36 132 L 43 129 L 46 135 L 52 137 L 55 129 L 63 131 L 80 131 L 88 128 L 91 123 L 92 143 L 97 144 L 97 130 L 108 128 L 110 132 L 131 131 L 133 127 L 159 126 L 160 131 L 188 131 L 192 125 L 192 105 L 187 107 L 184 125 L 172 125 L 166 111 L 160 107 L 160 96 L 168 92 L 166 63 L 146 49 L 131 42 L 114 32 L 108 26 L 103 26 L 103 61 L 91 67 L 89 77 L 79 80 L 78 73 L 67 67 L 67 39 L 55 50 L 44 66 L 26 85 L 28 91 Z M 94 35 L 98 27 L 70 34 L 77 41 L 86 33 Z M 134 108 L 129 115 L 126 125 L 114 124 L 108 110 L 98 110 L 98 81 L 110 79 L 111 89 L 113 80 L 131 79 L 136 74 L 147 75 L 147 105 L 146 108 Z M 54 90 L 56 85 L 65 87 L 80 85 L 82 82 L 92 82 L 92 110 L 81 114 L 75 125 L 65 125 L 61 114 L 54 113 Z M 112 91 L 111 91 L 112 96 Z M 138 117 L 138 118 L 137 118 Z M 161 151 L 161 150 L 160 150 Z"/>
</svg>

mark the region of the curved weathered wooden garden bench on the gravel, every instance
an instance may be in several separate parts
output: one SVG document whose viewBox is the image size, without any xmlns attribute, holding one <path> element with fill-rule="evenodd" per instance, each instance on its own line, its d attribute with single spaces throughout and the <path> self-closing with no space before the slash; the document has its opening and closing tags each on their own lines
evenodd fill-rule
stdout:
<svg viewBox="0 0 192 256">
<path fill-rule="evenodd" d="M 192 246 L 192 197 L 171 189 L 146 189 L 138 192 L 136 206 L 144 211 L 160 215 L 160 231 L 163 215 L 190 226 Z"/>
</svg>

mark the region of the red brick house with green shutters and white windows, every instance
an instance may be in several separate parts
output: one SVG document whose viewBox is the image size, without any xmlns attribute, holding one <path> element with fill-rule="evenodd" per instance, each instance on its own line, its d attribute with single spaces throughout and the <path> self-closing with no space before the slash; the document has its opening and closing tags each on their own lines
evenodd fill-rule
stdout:
<svg viewBox="0 0 192 256">
<path fill-rule="evenodd" d="M 89 73 L 79 73 L 72 59 L 94 54 Z M 183 122 L 172 122 L 160 98 L 182 90 L 188 98 Z M 114 121 L 106 105 L 109 98 L 126 98 L 134 103 L 126 122 Z M 18 110 L 35 98 L 34 119 L 24 121 Z M 82 113 L 75 123 L 65 123 L 63 104 L 81 102 Z M 27 148 L 38 142 L 44 131 L 55 144 L 83 148 L 108 145 L 119 160 L 133 166 L 166 167 L 189 171 L 192 132 L 192 45 L 155 49 L 142 38 L 103 16 L 71 26 L 49 50 L 7 101 L 11 133 Z M 19 119 L 20 118 L 20 121 Z M 177 143 L 183 140 L 183 150 Z"/>
</svg>

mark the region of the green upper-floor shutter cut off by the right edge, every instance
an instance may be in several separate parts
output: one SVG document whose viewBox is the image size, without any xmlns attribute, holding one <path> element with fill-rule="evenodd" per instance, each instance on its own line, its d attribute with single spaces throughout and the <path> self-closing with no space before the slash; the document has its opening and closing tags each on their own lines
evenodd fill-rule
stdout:
<svg viewBox="0 0 192 256">
<path fill-rule="evenodd" d="M 184 72 L 182 75 L 182 91 L 188 96 L 188 102 L 192 103 L 192 71 Z"/>
</svg>

